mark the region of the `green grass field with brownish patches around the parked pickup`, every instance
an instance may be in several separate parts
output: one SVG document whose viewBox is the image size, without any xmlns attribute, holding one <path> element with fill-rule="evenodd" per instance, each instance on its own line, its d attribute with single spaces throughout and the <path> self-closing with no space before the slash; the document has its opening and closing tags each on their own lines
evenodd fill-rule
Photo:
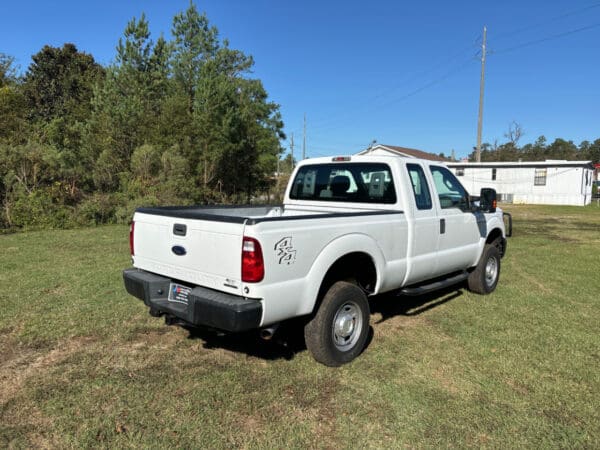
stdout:
<svg viewBox="0 0 600 450">
<path fill-rule="evenodd" d="M 338 369 L 150 317 L 126 227 L 2 235 L 0 447 L 599 448 L 600 208 L 508 209 L 494 294 L 376 298 Z"/>
</svg>

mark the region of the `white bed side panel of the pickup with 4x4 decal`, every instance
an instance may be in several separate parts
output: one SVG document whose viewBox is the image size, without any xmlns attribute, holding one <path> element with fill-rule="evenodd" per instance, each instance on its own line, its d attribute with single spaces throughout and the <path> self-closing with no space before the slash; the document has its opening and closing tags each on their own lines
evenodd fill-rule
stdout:
<svg viewBox="0 0 600 450">
<path fill-rule="evenodd" d="M 247 226 L 246 235 L 261 242 L 265 258 L 264 281 L 244 285 L 248 296 L 267 302 L 262 325 L 309 314 L 327 270 L 348 253 L 371 256 L 378 292 L 397 287 L 406 273 L 407 227 L 398 211 Z"/>
</svg>

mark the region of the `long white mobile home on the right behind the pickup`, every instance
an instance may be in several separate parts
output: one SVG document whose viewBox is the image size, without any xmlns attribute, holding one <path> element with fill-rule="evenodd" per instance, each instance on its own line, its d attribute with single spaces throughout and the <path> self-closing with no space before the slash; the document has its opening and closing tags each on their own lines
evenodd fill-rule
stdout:
<svg viewBox="0 0 600 450">
<path fill-rule="evenodd" d="M 539 205 L 584 206 L 591 202 L 591 161 L 448 162 L 465 188 L 477 195 L 496 189 L 501 201 Z"/>
</svg>

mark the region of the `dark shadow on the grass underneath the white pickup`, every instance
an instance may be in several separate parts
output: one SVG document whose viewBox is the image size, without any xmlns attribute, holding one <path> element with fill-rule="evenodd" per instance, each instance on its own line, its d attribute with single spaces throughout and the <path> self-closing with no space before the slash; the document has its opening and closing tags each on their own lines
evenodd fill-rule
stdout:
<svg viewBox="0 0 600 450">
<path fill-rule="evenodd" d="M 449 287 L 437 292 L 420 296 L 398 296 L 387 293 L 372 297 L 369 301 L 371 316 L 380 314 L 379 320 L 373 321 L 369 327 L 369 337 L 365 349 L 373 340 L 373 326 L 393 319 L 397 316 L 418 316 L 433 308 L 437 308 L 463 295 L 462 285 Z M 272 339 L 264 340 L 259 336 L 258 330 L 244 333 L 222 334 L 211 330 L 187 328 L 188 339 L 203 341 L 205 349 L 224 349 L 235 353 L 246 354 L 264 360 L 292 360 L 297 354 L 306 351 L 304 343 L 304 325 L 307 318 L 293 319 L 283 323 Z"/>
</svg>

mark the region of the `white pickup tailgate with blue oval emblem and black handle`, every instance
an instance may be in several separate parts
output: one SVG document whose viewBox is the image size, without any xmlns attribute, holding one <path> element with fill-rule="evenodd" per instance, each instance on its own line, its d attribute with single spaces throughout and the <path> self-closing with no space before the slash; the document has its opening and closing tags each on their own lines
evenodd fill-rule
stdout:
<svg viewBox="0 0 600 450">
<path fill-rule="evenodd" d="M 243 223 L 140 212 L 133 220 L 134 267 L 241 294 Z"/>
</svg>

